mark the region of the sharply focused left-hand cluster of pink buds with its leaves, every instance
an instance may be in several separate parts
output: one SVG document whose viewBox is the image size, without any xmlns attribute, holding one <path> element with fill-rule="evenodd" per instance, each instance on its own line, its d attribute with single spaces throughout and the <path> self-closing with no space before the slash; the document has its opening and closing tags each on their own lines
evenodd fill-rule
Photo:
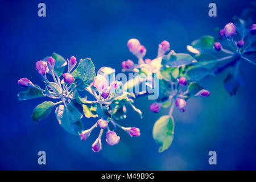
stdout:
<svg viewBox="0 0 256 182">
<path fill-rule="evenodd" d="M 56 57 L 57 64 L 53 56 Z M 68 71 L 58 75 L 59 69 L 65 67 L 66 62 L 56 53 L 53 53 L 53 56 L 46 57 L 46 59 L 37 61 L 35 64 L 38 76 L 42 78 L 43 82 L 46 84 L 45 89 L 32 84 L 27 78 L 20 78 L 18 80 L 20 86 L 30 88 L 27 92 L 20 92 L 18 94 L 20 100 L 41 96 L 61 100 L 57 103 L 43 102 L 38 105 L 32 114 L 32 118 L 35 121 L 46 118 L 47 114 L 49 114 L 48 110 L 51 110 L 53 106 L 59 105 L 55 113 L 60 125 L 69 133 L 80 135 L 81 140 L 86 140 L 96 127 L 100 128 L 98 138 L 92 144 L 92 150 L 94 152 L 99 152 L 102 148 L 101 138 L 105 129 L 107 130 L 106 143 L 110 146 L 119 143 L 120 137 L 115 131 L 109 129 L 109 123 L 113 124 L 114 129 L 116 126 L 120 127 L 131 137 L 139 137 L 141 135 L 137 127 L 123 127 L 114 121 L 114 119 L 123 119 L 126 117 L 125 104 L 129 104 L 136 111 L 141 112 L 132 104 L 133 100 L 131 98 L 135 97 L 134 94 L 123 92 L 122 82 L 109 79 L 109 75 L 114 74 L 114 69 L 102 67 L 98 71 L 97 76 L 95 76 L 92 61 L 85 59 L 80 60 L 77 69 L 72 72 L 77 64 L 77 59 L 75 56 L 71 56 L 71 58 L 67 60 Z M 61 65 L 61 67 L 57 67 L 57 65 Z M 92 75 L 86 75 L 88 72 L 91 72 Z M 53 81 L 49 81 L 50 77 L 48 77 L 48 75 L 52 76 Z M 60 80 L 61 76 L 63 77 L 62 80 Z M 87 82 L 88 80 L 91 81 Z M 83 84 L 86 84 L 86 86 L 82 86 L 81 88 Z M 35 90 L 38 90 L 38 92 Z M 78 91 L 83 90 L 92 94 L 95 100 L 88 101 L 86 97 L 81 98 Z M 79 104 L 80 106 L 77 106 Z M 81 113 L 83 113 L 86 118 L 98 117 L 98 120 L 90 129 L 84 130 L 81 127 L 82 123 L 77 121 L 77 119 L 80 120 L 82 118 Z"/>
</svg>

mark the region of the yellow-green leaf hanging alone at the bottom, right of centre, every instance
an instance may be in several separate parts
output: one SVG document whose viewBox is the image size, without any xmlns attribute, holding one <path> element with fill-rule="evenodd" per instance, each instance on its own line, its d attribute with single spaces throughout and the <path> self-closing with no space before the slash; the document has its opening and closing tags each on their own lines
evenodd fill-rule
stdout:
<svg viewBox="0 0 256 182">
<path fill-rule="evenodd" d="M 169 115 L 160 117 L 153 127 L 153 138 L 161 145 L 159 152 L 169 148 L 174 139 L 174 118 Z"/>
</svg>

